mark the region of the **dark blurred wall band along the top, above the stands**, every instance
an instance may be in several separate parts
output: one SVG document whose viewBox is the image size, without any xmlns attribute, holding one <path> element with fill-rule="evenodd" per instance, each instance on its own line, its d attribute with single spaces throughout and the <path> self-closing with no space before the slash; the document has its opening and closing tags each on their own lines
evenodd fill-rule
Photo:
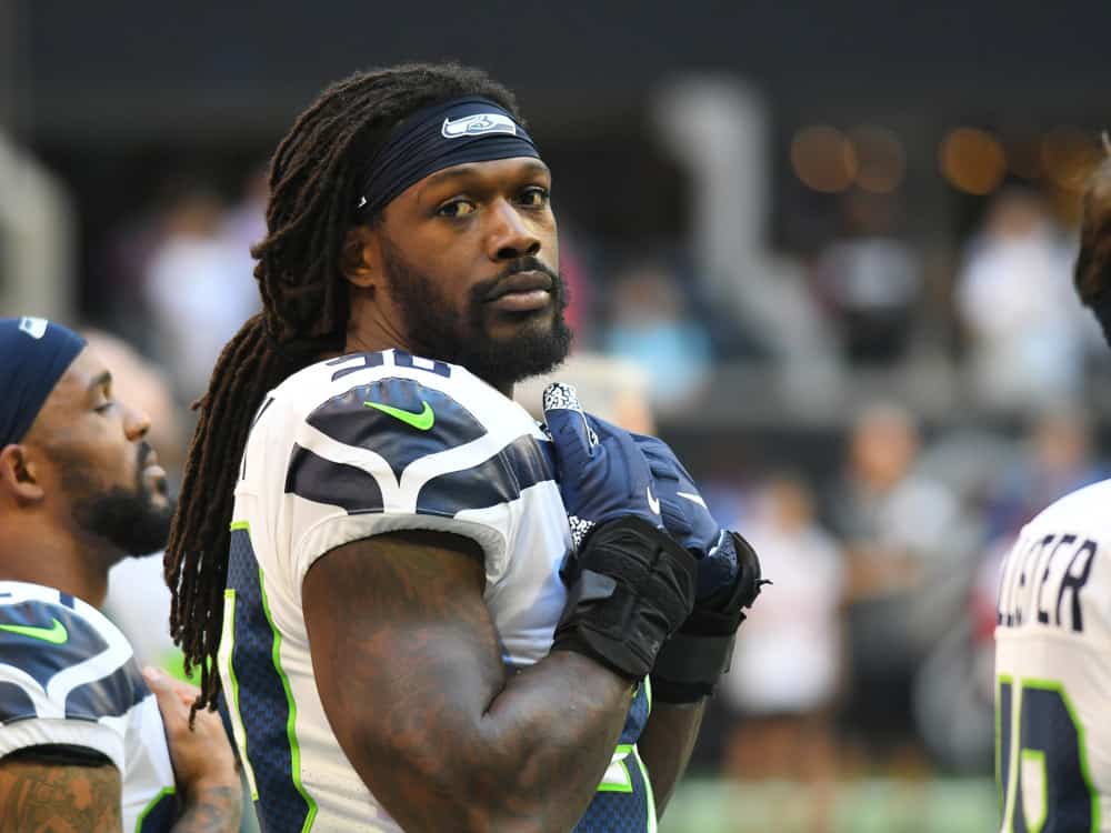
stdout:
<svg viewBox="0 0 1111 833">
<path fill-rule="evenodd" d="M 9 121 L 40 139 L 266 131 L 323 82 L 409 59 L 481 63 L 541 126 L 611 121 L 677 70 L 911 109 L 1090 107 L 1111 74 L 1111 3 L 1091 1 L 6 2 Z"/>
</svg>

